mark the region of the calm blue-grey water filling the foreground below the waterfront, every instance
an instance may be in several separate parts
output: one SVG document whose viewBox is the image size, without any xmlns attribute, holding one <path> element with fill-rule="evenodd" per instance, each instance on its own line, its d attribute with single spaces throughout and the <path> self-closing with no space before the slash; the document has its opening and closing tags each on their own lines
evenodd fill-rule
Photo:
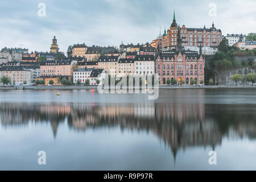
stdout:
<svg viewBox="0 0 256 182">
<path fill-rule="evenodd" d="M 1 170 L 256 169 L 255 89 L 60 93 L 0 91 Z"/>
</svg>

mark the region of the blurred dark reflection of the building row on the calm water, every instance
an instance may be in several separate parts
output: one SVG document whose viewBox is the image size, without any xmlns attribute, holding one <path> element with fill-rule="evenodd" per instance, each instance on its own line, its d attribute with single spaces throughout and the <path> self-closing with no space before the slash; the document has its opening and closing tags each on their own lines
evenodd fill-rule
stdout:
<svg viewBox="0 0 256 182">
<path fill-rule="evenodd" d="M 177 151 L 191 146 L 211 146 L 214 149 L 221 144 L 224 135 L 256 138 L 256 123 L 251 122 L 255 112 L 241 115 L 236 110 L 239 110 L 236 106 L 205 105 L 203 102 L 94 104 L 93 107 L 82 103 L 2 103 L 0 118 L 3 128 L 27 126 L 29 122 L 49 122 L 54 137 L 59 124 L 65 120 L 75 131 L 118 126 L 121 130 L 152 132 L 168 144 L 176 156 Z"/>
</svg>

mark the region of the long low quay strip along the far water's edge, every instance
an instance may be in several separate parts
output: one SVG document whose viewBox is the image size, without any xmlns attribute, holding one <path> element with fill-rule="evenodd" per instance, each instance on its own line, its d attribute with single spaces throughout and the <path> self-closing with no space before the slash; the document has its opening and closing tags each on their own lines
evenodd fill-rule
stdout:
<svg viewBox="0 0 256 182">
<path fill-rule="evenodd" d="M 1 86 L 0 90 L 69 90 L 69 89 L 97 89 L 97 86 Z M 140 89 L 140 88 L 134 88 Z M 159 85 L 159 89 L 256 89 L 256 86 L 167 86 Z"/>
</svg>

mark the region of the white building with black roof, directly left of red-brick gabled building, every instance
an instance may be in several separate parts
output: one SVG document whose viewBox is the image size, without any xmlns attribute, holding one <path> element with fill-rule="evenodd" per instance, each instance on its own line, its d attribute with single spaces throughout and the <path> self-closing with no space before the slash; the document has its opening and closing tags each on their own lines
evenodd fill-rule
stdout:
<svg viewBox="0 0 256 182">
<path fill-rule="evenodd" d="M 154 74 L 154 55 L 137 55 L 134 59 L 134 76 L 146 76 Z"/>
</svg>

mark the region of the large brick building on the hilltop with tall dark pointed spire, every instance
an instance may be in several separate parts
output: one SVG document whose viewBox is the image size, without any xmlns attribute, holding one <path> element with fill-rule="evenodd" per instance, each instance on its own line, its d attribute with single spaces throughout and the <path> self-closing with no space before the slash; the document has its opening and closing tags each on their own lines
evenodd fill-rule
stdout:
<svg viewBox="0 0 256 182">
<path fill-rule="evenodd" d="M 171 27 L 167 32 L 164 32 L 162 39 L 158 38 L 159 48 L 162 46 L 162 51 L 168 51 L 177 47 L 177 34 L 181 34 L 181 46 L 185 50 L 197 51 L 199 53 L 200 45 L 203 46 L 203 54 L 213 55 L 218 51 L 218 45 L 222 41 L 221 30 L 214 27 L 206 28 L 187 28 L 185 25 L 179 27 L 176 23 L 175 13 Z M 156 39 L 157 40 L 157 39 Z M 156 42 L 155 40 L 155 42 Z M 162 44 L 160 44 L 162 42 Z M 155 45 L 156 46 L 156 45 Z"/>
</svg>

